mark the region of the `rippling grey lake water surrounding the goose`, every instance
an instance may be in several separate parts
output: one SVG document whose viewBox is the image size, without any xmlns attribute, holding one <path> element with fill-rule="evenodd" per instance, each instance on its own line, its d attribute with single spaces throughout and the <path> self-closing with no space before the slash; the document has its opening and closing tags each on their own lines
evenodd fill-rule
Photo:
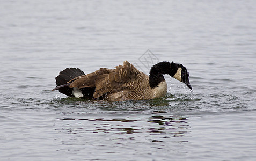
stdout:
<svg viewBox="0 0 256 161">
<path fill-rule="evenodd" d="M 1 1 L 0 19 L 0 160 L 255 160 L 256 1 Z M 125 60 L 182 63 L 193 92 L 169 76 L 153 100 L 51 91 Z"/>
</svg>

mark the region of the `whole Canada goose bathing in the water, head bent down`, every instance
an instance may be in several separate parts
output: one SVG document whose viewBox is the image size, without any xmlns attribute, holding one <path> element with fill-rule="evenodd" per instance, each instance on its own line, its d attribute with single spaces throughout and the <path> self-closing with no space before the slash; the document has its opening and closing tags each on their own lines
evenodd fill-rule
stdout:
<svg viewBox="0 0 256 161">
<path fill-rule="evenodd" d="M 100 68 L 87 75 L 78 68 L 67 68 L 55 78 L 57 87 L 53 91 L 58 90 L 70 97 L 109 101 L 153 99 L 167 93 L 163 74 L 192 89 L 189 74 L 182 64 L 159 62 L 153 65 L 148 76 L 125 61 L 115 69 Z"/>
</svg>

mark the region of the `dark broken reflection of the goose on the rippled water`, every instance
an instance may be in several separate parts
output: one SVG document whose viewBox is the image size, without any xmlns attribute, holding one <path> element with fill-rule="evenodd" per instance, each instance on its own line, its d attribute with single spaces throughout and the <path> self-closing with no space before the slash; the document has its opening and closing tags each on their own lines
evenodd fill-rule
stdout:
<svg viewBox="0 0 256 161">
<path fill-rule="evenodd" d="M 83 117 L 83 116 L 81 116 Z M 91 117 L 91 116 L 90 116 Z M 154 115 L 148 119 L 83 119 L 83 118 L 57 118 L 63 122 L 64 127 L 57 130 L 64 130 L 68 134 L 85 133 L 114 133 L 114 134 L 133 134 L 133 133 L 152 133 L 153 135 L 163 135 L 167 137 L 182 137 L 189 134 L 189 120 L 186 116 L 164 116 Z M 91 131 L 86 128 L 87 122 L 94 125 Z M 82 124 L 78 128 L 73 129 L 72 125 Z M 144 126 L 143 126 L 144 125 Z M 69 127 L 69 128 L 67 128 Z"/>
</svg>

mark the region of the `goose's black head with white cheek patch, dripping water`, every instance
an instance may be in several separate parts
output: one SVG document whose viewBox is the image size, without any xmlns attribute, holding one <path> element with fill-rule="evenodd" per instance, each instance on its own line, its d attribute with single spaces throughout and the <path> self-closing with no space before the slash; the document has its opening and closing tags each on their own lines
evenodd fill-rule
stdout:
<svg viewBox="0 0 256 161">
<path fill-rule="evenodd" d="M 192 90 L 192 86 L 189 83 L 189 72 L 187 68 L 184 67 L 182 64 L 177 63 L 170 63 L 169 73 L 171 77 L 183 82 L 184 84 Z"/>
</svg>

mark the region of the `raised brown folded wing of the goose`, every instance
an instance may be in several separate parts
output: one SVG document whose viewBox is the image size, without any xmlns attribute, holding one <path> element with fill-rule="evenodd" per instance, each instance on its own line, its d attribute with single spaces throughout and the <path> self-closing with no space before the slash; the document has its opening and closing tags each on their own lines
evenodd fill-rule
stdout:
<svg viewBox="0 0 256 161">
<path fill-rule="evenodd" d="M 123 65 L 118 65 L 115 69 L 100 68 L 90 74 L 74 78 L 70 80 L 70 82 L 73 81 L 70 87 L 77 87 L 78 89 L 95 87 L 93 97 L 98 98 L 106 93 L 120 90 L 123 84 L 136 79 L 138 74 L 140 71 L 133 64 L 125 61 Z"/>
</svg>

